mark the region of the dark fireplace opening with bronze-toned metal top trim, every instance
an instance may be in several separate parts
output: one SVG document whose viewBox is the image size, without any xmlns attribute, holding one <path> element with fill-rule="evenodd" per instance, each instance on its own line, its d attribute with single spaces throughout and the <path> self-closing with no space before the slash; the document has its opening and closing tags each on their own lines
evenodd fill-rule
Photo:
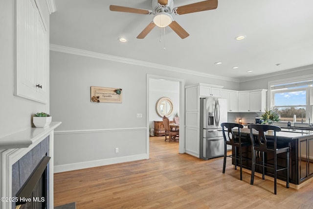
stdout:
<svg viewBox="0 0 313 209">
<path fill-rule="evenodd" d="M 49 160 L 50 157 L 43 157 L 25 184 L 17 192 L 16 209 L 47 208 L 47 164 Z"/>
</svg>

